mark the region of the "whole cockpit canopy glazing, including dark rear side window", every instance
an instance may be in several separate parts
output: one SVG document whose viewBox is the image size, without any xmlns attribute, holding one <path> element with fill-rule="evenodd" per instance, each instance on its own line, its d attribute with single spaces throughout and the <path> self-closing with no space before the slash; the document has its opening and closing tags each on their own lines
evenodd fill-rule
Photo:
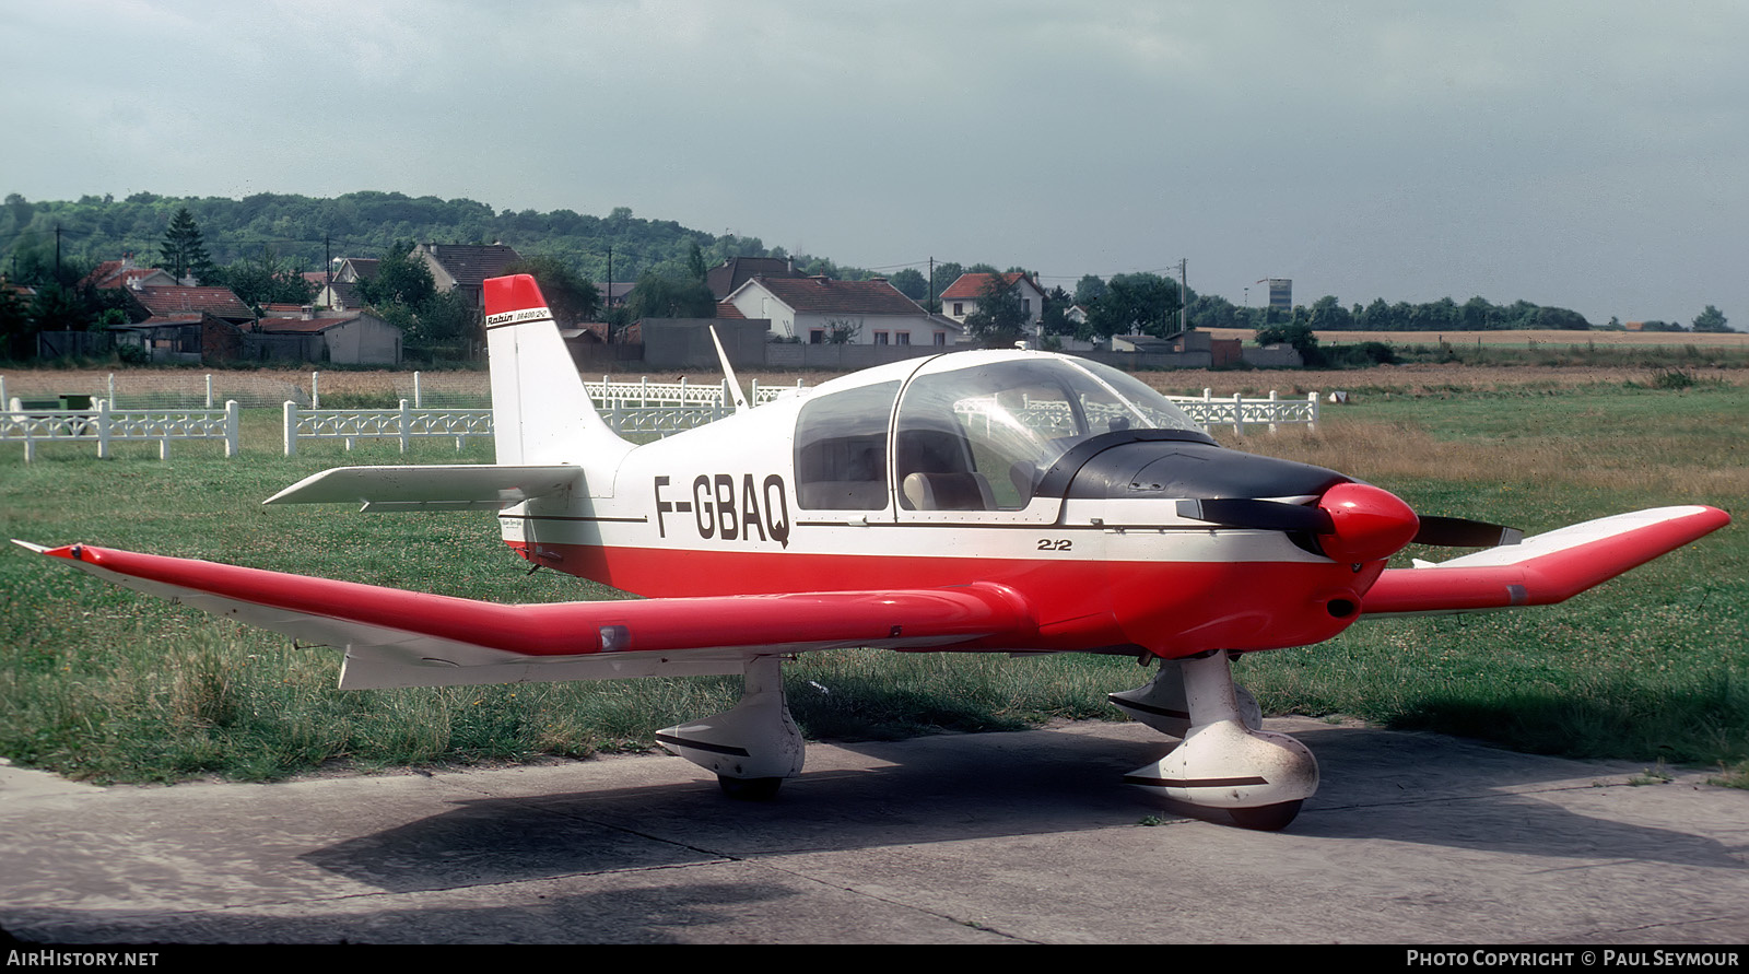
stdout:
<svg viewBox="0 0 1749 974">
<path fill-rule="evenodd" d="M 897 407 L 895 407 L 897 404 Z M 1123 430 L 1202 434 L 1109 365 L 1056 355 L 943 355 L 826 392 L 796 423 L 796 491 L 815 511 L 1018 511 L 1077 442 Z M 888 477 L 888 469 L 892 477 Z"/>
</svg>

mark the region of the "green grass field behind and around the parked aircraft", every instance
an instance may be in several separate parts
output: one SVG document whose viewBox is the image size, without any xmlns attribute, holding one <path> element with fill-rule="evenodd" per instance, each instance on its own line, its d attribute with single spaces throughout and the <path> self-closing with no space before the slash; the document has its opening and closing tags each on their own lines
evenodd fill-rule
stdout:
<svg viewBox="0 0 1749 974">
<path fill-rule="evenodd" d="M 1749 390 L 1730 378 L 1658 390 L 1632 374 L 1576 383 L 1364 376 L 1371 385 L 1343 383 L 1361 392 L 1329 407 L 1317 432 L 1216 434 L 1369 479 L 1418 511 L 1527 532 L 1665 504 L 1740 512 L 1749 500 Z M 110 462 L 45 446 L 26 465 L 21 448 L 0 448 L 0 530 L 498 602 L 616 595 L 549 572 L 525 575 L 479 514 L 261 507 L 331 465 L 402 462 L 392 446 L 299 451 L 278 455 L 273 411 L 247 413 L 238 460 L 199 444 L 178 444 L 170 462 L 152 446 L 124 446 Z M 462 456 L 490 460 L 490 444 Z M 441 442 L 409 458 L 453 460 Z M 0 755 L 94 780 L 262 780 L 334 761 L 373 768 L 640 748 L 654 729 L 712 713 L 736 692 L 724 678 L 339 692 L 334 650 L 290 649 L 23 549 L 0 554 Z M 1562 607 L 1362 621 L 1317 647 L 1247 656 L 1237 671 L 1273 713 L 1742 768 L 1746 633 L 1749 535 L 1739 523 Z M 850 650 L 785 668 L 792 708 L 813 738 L 1114 719 L 1104 694 L 1142 678 L 1132 661 L 1076 656 Z"/>
</svg>

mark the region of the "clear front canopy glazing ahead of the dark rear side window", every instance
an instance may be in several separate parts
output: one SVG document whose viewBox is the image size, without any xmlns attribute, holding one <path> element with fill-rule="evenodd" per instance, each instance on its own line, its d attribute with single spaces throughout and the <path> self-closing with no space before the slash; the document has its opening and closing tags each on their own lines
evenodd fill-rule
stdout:
<svg viewBox="0 0 1749 974">
<path fill-rule="evenodd" d="M 1077 441 L 1132 428 L 1200 432 L 1163 395 L 1095 362 L 1028 357 L 922 374 L 899 400 L 899 504 L 1014 511 Z"/>
</svg>

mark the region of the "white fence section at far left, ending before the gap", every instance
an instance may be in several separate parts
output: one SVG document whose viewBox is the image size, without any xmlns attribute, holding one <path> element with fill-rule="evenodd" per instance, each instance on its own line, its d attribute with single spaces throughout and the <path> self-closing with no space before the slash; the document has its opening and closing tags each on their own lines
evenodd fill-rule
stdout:
<svg viewBox="0 0 1749 974">
<path fill-rule="evenodd" d="M 35 409 L 14 399 L 0 413 L 0 441 L 23 442 L 24 462 L 37 458 L 38 442 L 79 442 L 98 448 L 108 460 L 110 444 L 157 442 L 157 458 L 170 458 L 170 441 L 224 441 L 224 455 L 241 449 L 241 409 L 236 400 L 224 409 Z"/>
</svg>

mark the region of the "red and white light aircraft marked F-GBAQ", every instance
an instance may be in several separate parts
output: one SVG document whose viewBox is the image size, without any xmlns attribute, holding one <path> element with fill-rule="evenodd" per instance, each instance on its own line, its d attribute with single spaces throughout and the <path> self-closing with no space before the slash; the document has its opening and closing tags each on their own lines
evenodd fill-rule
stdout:
<svg viewBox="0 0 1749 974">
<path fill-rule="evenodd" d="M 740 673 L 735 708 L 658 734 L 736 797 L 801 771 L 785 656 L 1132 656 L 1158 670 L 1112 703 L 1181 743 L 1125 780 L 1280 829 L 1317 761 L 1259 729 L 1231 657 L 1362 617 L 1562 602 L 1730 521 L 1663 507 L 1522 539 L 1418 518 L 1338 472 L 1224 449 L 1118 369 L 1025 350 L 878 365 L 633 446 L 589 402 L 533 278 L 488 280 L 484 325 L 497 463 L 341 467 L 266 504 L 495 511 L 535 567 L 645 600 L 495 605 L 28 547 L 345 647 L 345 689 Z M 1410 542 L 1485 551 L 1387 568 Z"/>
</svg>

